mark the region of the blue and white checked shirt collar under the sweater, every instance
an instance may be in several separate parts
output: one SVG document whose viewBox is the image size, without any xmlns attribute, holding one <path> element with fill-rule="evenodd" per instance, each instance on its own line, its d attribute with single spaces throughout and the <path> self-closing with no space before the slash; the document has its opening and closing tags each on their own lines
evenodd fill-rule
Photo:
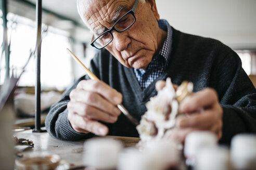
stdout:
<svg viewBox="0 0 256 170">
<path fill-rule="evenodd" d="M 172 27 L 167 20 L 159 20 L 158 25 L 162 30 L 167 32 L 167 38 L 164 41 L 162 49 L 159 54 L 152 59 L 146 70 L 134 68 L 134 73 L 143 90 L 146 89 L 153 80 L 164 73 L 170 61 L 172 50 Z"/>
</svg>

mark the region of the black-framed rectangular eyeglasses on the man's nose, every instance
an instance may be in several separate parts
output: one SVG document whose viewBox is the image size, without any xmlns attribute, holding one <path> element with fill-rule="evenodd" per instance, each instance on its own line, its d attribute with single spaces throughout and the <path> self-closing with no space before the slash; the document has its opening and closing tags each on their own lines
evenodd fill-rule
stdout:
<svg viewBox="0 0 256 170">
<path fill-rule="evenodd" d="M 121 33 L 129 29 L 136 21 L 134 13 L 138 7 L 138 4 L 139 0 L 136 0 L 133 8 L 130 11 L 126 12 L 125 15 L 123 15 L 120 19 L 118 19 L 117 22 L 115 22 L 114 25 L 111 27 L 111 29 L 105 31 L 96 39 L 94 39 L 91 43 L 91 46 L 97 49 L 103 49 L 113 40 L 113 30 Z"/>
</svg>

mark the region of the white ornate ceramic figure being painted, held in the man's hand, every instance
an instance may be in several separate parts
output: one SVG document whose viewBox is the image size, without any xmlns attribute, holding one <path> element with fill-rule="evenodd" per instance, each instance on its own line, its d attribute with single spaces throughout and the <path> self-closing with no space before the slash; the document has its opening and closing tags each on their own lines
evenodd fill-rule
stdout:
<svg viewBox="0 0 256 170">
<path fill-rule="evenodd" d="M 146 103 L 147 111 L 136 127 L 141 139 L 139 145 L 147 145 L 149 141 L 154 140 L 172 140 L 171 134 L 178 115 L 177 98 L 190 94 L 193 83 L 186 81 L 182 83 L 180 89 L 182 89 L 179 90 L 181 95 L 177 96 L 171 79 L 167 78 L 165 87 Z"/>
</svg>

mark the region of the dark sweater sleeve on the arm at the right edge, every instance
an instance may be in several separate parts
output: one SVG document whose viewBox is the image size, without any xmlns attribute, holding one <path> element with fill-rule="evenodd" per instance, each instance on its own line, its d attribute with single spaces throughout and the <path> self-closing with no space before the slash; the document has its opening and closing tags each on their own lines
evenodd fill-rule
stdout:
<svg viewBox="0 0 256 170">
<path fill-rule="evenodd" d="M 256 133 L 256 91 L 234 51 L 218 63 L 215 73 L 223 107 L 223 136 L 220 143 L 229 145 L 232 137 L 238 133 Z"/>
</svg>

